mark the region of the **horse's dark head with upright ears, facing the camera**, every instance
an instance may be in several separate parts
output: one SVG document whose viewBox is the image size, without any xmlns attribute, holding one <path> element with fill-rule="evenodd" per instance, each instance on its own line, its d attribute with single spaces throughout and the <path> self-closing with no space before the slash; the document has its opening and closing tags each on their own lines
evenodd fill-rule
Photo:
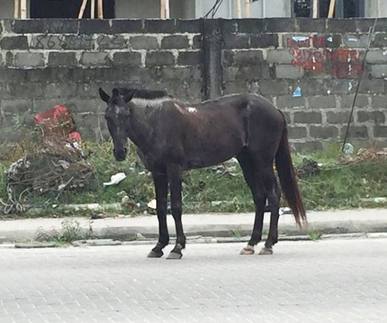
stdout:
<svg viewBox="0 0 387 323">
<path fill-rule="evenodd" d="M 112 96 L 107 95 L 100 88 L 100 97 L 107 103 L 105 110 L 105 119 L 107 128 L 114 144 L 114 157 L 117 161 L 123 161 L 127 153 L 128 127 L 130 109 L 129 101 L 133 98 L 137 90 L 132 90 L 124 96 L 120 95 L 118 89 L 113 89 Z"/>
</svg>

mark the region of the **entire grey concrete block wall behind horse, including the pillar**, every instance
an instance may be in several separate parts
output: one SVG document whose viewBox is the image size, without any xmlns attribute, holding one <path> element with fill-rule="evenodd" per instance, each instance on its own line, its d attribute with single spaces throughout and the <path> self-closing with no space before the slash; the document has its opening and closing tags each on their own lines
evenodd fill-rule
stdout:
<svg viewBox="0 0 387 323">
<path fill-rule="evenodd" d="M 284 111 L 294 149 L 343 138 L 373 19 L 0 21 L 0 136 L 64 103 L 83 136 L 106 135 L 98 87 L 200 101 L 258 93 Z M 350 142 L 387 146 L 387 19 L 367 55 Z M 294 97 L 300 88 L 301 97 Z M 11 131 L 12 133 L 12 131 Z"/>
</svg>

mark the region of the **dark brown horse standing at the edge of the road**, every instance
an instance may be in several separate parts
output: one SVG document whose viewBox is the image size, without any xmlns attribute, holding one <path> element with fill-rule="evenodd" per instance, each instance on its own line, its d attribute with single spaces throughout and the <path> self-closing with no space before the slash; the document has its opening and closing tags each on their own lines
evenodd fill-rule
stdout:
<svg viewBox="0 0 387 323">
<path fill-rule="evenodd" d="M 253 195 L 256 216 L 253 233 L 242 254 L 254 253 L 262 236 L 266 199 L 271 217 L 269 235 L 260 254 L 271 254 L 277 242 L 280 190 L 297 224 L 306 222 L 287 142 L 283 114 L 255 94 L 236 94 L 198 104 L 173 99 L 163 91 L 113 89 L 112 96 L 100 88 L 107 103 L 105 117 L 114 144 L 114 156 L 126 156 L 127 138 L 137 146 L 145 167 L 152 172 L 157 201 L 159 238 L 148 257 L 161 257 L 169 242 L 166 222 L 168 184 L 176 245 L 168 259 L 180 259 L 185 247 L 181 223 L 181 175 L 185 170 L 222 163 L 235 156 Z"/>
</svg>

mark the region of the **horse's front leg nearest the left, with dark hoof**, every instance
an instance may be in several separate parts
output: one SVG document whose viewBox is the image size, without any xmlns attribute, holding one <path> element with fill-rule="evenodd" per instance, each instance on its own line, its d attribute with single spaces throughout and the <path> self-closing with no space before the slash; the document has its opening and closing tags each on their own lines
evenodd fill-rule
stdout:
<svg viewBox="0 0 387 323">
<path fill-rule="evenodd" d="M 158 219 L 158 242 L 155 248 L 148 254 L 149 258 L 159 258 L 163 255 L 162 249 L 169 243 L 167 227 L 167 197 L 168 180 L 166 174 L 152 173 L 155 183 Z"/>
</svg>

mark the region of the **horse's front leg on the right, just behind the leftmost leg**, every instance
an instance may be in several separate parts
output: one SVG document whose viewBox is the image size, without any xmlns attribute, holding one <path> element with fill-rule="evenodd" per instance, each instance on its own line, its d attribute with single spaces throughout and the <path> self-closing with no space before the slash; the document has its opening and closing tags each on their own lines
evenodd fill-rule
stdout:
<svg viewBox="0 0 387 323">
<path fill-rule="evenodd" d="M 168 165 L 167 174 L 171 190 L 172 216 L 176 225 L 176 245 L 167 259 L 180 259 L 183 256 L 181 250 L 185 248 L 185 236 L 181 223 L 181 166 L 178 164 Z"/>
</svg>

